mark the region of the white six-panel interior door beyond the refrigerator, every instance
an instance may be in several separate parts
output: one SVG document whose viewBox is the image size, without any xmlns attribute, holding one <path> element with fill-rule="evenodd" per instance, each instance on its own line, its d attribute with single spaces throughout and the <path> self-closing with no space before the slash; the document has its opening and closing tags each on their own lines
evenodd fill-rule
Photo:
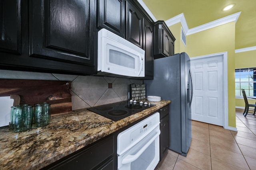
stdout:
<svg viewBox="0 0 256 170">
<path fill-rule="evenodd" d="M 190 61 L 193 100 L 192 120 L 223 126 L 223 57 L 198 57 Z"/>
</svg>

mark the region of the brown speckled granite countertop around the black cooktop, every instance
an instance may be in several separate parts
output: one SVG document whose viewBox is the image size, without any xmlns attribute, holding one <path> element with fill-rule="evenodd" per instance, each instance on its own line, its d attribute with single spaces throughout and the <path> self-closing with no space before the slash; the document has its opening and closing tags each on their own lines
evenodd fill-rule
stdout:
<svg viewBox="0 0 256 170">
<path fill-rule="evenodd" d="M 40 169 L 166 106 L 169 100 L 150 102 L 156 106 L 112 121 L 87 109 L 51 117 L 50 124 L 14 133 L 0 128 L 0 169 Z"/>
</svg>

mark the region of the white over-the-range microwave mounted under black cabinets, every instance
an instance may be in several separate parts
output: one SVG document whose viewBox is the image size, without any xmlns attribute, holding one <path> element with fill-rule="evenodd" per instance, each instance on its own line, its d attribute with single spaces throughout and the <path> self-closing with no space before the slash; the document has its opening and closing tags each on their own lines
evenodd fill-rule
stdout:
<svg viewBox="0 0 256 170">
<path fill-rule="evenodd" d="M 145 51 L 126 39 L 101 29 L 98 31 L 98 73 L 145 76 Z"/>
</svg>

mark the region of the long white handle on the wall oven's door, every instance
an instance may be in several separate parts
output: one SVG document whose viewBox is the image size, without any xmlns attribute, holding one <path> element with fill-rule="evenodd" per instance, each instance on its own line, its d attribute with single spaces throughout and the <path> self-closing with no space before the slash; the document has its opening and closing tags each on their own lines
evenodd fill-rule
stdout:
<svg viewBox="0 0 256 170">
<path fill-rule="evenodd" d="M 156 140 L 157 137 L 159 137 L 160 135 L 160 129 L 158 129 L 156 131 L 156 135 L 154 135 L 153 138 L 150 139 L 150 141 L 148 141 L 148 143 L 146 143 L 146 145 L 144 145 L 136 154 L 134 155 L 131 155 L 131 154 L 128 154 L 123 160 L 122 160 L 122 164 L 128 164 L 128 163 L 131 163 L 133 162 L 134 160 L 138 159 L 138 157 L 140 157 L 140 155 L 149 147 L 149 145 L 154 141 Z"/>
</svg>

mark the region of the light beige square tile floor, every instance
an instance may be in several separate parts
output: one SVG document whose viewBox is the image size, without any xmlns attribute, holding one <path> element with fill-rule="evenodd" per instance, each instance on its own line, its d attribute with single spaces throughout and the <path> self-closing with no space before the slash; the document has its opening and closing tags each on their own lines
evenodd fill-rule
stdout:
<svg viewBox="0 0 256 170">
<path fill-rule="evenodd" d="M 192 121 L 188 155 L 168 150 L 155 170 L 256 170 L 256 116 L 236 109 L 236 131 Z"/>
</svg>

